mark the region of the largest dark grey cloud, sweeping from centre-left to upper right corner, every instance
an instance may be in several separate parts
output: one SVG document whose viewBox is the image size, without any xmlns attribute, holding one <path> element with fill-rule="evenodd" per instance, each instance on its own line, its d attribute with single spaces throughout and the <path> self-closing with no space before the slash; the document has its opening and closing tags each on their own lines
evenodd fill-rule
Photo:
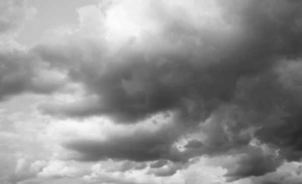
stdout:
<svg viewBox="0 0 302 184">
<path fill-rule="evenodd" d="M 81 48 L 70 50 L 68 47 L 74 48 L 71 45 L 56 49 L 37 46 L 34 50 L 45 61 L 67 69 L 72 80 L 85 84 L 89 93 L 99 97 L 99 106 L 93 106 L 89 111 L 66 104 L 43 107 L 44 112 L 73 117 L 110 115 L 120 122 L 136 122 L 154 113 L 173 109 L 181 110 L 187 116 L 188 109 L 183 99 L 189 99 L 195 107 L 201 106 L 198 100 L 205 103 L 203 110 L 196 110 L 203 111 L 203 114 L 194 113 L 194 108 L 190 112 L 192 117 L 194 114 L 197 119 L 204 120 L 220 103 L 233 99 L 240 77 L 267 70 L 278 57 L 299 55 L 297 48 L 301 45 L 296 40 L 301 35 L 297 30 L 299 27 L 291 21 L 298 20 L 300 11 L 295 7 L 300 6 L 299 2 L 275 2 L 272 5 L 260 1 L 219 3 L 225 13 L 225 21 L 234 26 L 233 33 L 206 29 L 191 32 L 183 28 L 182 22 L 173 22 L 175 26 L 169 29 L 163 28 L 166 31 L 164 35 L 175 35 L 181 42 L 188 42 L 185 51 L 171 52 L 167 48 L 158 48 L 150 52 L 142 48 L 137 52 L 129 45 L 117 54 L 119 57 L 108 58 L 105 54 L 107 47 L 103 46 L 106 43 L 92 44 L 88 47 L 93 50 L 91 57 L 94 60 L 86 62 L 83 60 L 85 50 Z M 288 8 L 287 12 L 281 10 L 283 5 Z M 267 9 L 260 8 L 262 6 Z M 161 10 L 164 11 L 165 7 Z M 230 13 L 233 10 L 235 15 Z M 171 20 L 164 18 L 165 26 L 170 25 Z M 159 36 L 164 39 L 163 35 Z M 196 39 L 188 39 L 190 36 Z M 213 52 L 203 52 L 204 48 L 198 46 L 196 40 L 214 47 Z M 148 44 L 153 43 L 150 41 Z M 203 54 L 194 53 L 193 49 L 188 49 L 190 47 Z M 218 59 L 213 59 L 212 55 L 217 55 Z M 72 58 L 74 62 L 70 64 Z M 115 61 L 118 58 L 124 61 Z M 136 92 L 127 91 L 127 84 L 136 88 Z M 193 98 L 192 93 L 197 97 Z M 215 99 L 217 103 L 210 104 Z"/>
</svg>

